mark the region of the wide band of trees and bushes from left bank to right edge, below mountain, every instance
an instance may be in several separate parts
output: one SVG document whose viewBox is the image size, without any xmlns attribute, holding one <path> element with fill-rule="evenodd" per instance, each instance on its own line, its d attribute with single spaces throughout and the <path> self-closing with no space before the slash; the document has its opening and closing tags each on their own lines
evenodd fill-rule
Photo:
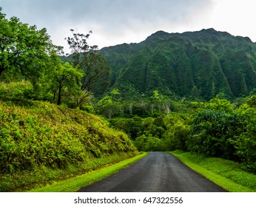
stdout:
<svg viewBox="0 0 256 207">
<path fill-rule="evenodd" d="M 150 105 L 140 107 L 133 115 L 124 110 L 122 116 L 110 118 L 112 126 L 126 132 L 138 150 L 183 149 L 234 160 L 255 172 L 255 96 L 240 106 L 218 97 L 209 102 L 172 101 L 168 114 L 159 106 L 153 115 Z"/>
</svg>

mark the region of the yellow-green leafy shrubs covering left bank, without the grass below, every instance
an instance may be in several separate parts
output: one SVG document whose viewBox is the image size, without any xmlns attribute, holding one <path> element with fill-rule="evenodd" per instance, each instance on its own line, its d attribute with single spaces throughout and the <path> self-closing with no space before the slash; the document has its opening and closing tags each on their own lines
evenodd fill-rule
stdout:
<svg viewBox="0 0 256 207">
<path fill-rule="evenodd" d="M 1 173 L 38 166 L 65 169 L 117 152 L 135 152 L 122 132 L 85 112 L 34 102 L 0 109 Z"/>
</svg>

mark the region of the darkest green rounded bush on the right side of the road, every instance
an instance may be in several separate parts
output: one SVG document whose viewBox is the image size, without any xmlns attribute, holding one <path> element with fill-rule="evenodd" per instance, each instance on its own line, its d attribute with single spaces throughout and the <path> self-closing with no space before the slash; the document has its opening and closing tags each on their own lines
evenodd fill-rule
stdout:
<svg viewBox="0 0 256 207">
<path fill-rule="evenodd" d="M 235 143 L 244 131 L 240 115 L 212 110 L 202 110 L 192 124 L 192 137 L 188 146 L 193 152 L 238 160 L 235 156 Z"/>
</svg>

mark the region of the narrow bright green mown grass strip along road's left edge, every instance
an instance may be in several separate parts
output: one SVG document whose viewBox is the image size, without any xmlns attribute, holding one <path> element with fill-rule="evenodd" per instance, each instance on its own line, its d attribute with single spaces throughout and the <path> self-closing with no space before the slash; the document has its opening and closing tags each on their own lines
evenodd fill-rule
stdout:
<svg viewBox="0 0 256 207">
<path fill-rule="evenodd" d="M 135 163 L 141 158 L 147 155 L 146 152 L 141 155 L 137 155 L 135 157 L 129 158 L 127 160 L 121 161 L 120 163 L 115 163 L 111 166 L 106 166 L 101 169 L 94 170 L 92 172 L 87 172 L 86 174 L 81 174 L 76 177 L 61 180 L 59 182 L 53 183 L 51 185 L 32 189 L 29 192 L 74 192 L 78 191 L 84 186 L 90 185 L 91 183 L 95 183 L 98 180 L 102 180 L 104 177 L 108 177 L 111 174 L 115 174 L 121 169 L 126 168 L 127 166 Z"/>
</svg>

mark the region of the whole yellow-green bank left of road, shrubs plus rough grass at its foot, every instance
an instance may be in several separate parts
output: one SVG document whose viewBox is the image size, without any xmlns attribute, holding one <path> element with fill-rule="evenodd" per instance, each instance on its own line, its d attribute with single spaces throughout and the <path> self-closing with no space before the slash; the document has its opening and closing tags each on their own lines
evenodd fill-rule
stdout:
<svg viewBox="0 0 256 207">
<path fill-rule="evenodd" d="M 49 183 L 137 155 L 127 135 L 87 112 L 29 101 L 27 106 L 1 103 L 0 117 L 1 191 Z"/>
</svg>

